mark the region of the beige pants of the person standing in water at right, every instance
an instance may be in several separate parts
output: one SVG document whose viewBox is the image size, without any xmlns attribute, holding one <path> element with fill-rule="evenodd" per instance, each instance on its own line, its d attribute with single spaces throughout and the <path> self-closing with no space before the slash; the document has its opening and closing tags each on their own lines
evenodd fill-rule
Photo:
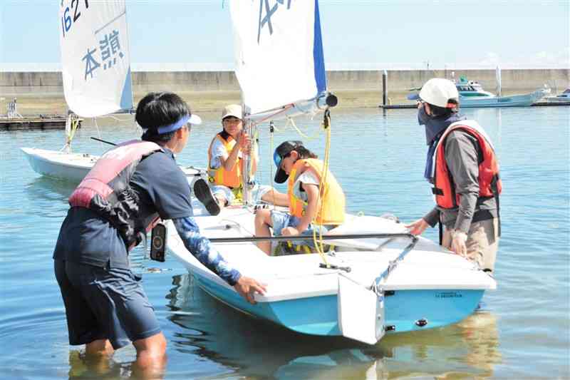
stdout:
<svg viewBox="0 0 570 380">
<path fill-rule="evenodd" d="M 499 220 L 497 218 L 472 223 L 467 233 L 467 258 L 481 267 L 494 270 L 499 249 Z M 451 249 L 451 232 L 445 229 L 442 245 Z"/>
</svg>

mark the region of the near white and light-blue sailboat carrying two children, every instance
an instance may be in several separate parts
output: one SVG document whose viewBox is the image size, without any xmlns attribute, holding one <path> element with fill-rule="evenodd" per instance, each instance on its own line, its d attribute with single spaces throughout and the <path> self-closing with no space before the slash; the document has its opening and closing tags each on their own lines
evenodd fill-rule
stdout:
<svg viewBox="0 0 570 380">
<path fill-rule="evenodd" d="M 326 89 L 318 1 L 231 0 L 236 75 L 244 125 L 296 115 L 327 114 L 337 99 Z M 330 125 L 328 125 L 330 133 Z M 325 157 L 325 160 L 327 158 Z M 244 183 L 249 184 L 249 170 Z M 410 235 L 394 217 L 347 215 L 323 235 L 333 249 L 268 256 L 255 245 L 248 197 L 212 216 L 192 200 L 202 235 L 242 274 L 267 284 L 257 304 L 188 252 L 169 222 L 167 247 L 196 283 L 220 302 L 295 332 L 375 344 L 385 334 L 453 324 L 472 314 L 494 279 L 472 262 L 423 237 Z M 271 206 L 270 206 L 271 207 Z M 298 237 L 271 237 L 295 240 Z M 303 237 L 306 239 L 306 237 Z"/>
</svg>

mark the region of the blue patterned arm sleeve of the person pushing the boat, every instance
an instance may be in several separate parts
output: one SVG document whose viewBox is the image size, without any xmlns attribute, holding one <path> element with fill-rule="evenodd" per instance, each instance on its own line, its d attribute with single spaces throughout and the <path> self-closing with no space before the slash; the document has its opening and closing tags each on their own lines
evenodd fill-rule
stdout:
<svg viewBox="0 0 570 380">
<path fill-rule="evenodd" d="M 212 243 L 200 235 L 200 230 L 194 217 L 179 217 L 172 219 L 182 242 L 194 257 L 205 267 L 217 274 L 228 284 L 234 286 L 242 277 L 237 269 L 224 260 L 224 257 L 214 248 Z"/>
</svg>

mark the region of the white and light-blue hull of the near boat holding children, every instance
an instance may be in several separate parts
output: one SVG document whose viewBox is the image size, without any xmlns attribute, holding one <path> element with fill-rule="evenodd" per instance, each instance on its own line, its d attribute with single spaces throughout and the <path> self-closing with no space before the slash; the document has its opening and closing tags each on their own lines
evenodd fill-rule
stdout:
<svg viewBox="0 0 570 380">
<path fill-rule="evenodd" d="M 216 217 L 204 216 L 196 206 L 196 220 L 203 235 L 216 237 L 251 237 L 254 215 L 247 208 L 224 209 Z M 380 217 L 353 217 L 348 230 L 358 232 L 394 232 L 403 226 Z M 345 228 L 343 233 L 348 232 Z M 204 267 L 188 252 L 175 228 L 168 233 L 169 252 L 180 260 L 212 297 L 253 317 L 266 319 L 287 329 L 314 335 L 342 336 L 338 321 L 338 276 L 349 277 L 363 286 L 375 279 L 402 252 L 409 241 L 368 239 L 363 244 L 380 251 L 366 250 L 356 242 L 343 242 L 329 263 L 350 267 L 350 272 L 319 267 L 318 254 L 271 257 L 251 242 L 217 243 L 217 250 L 242 274 L 267 284 L 264 295 L 256 295 L 257 304 L 245 302 L 232 287 Z M 341 242 L 341 240 L 338 240 Z M 337 243 L 338 243 L 337 242 Z M 471 262 L 442 251 L 439 245 L 420 238 L 416 248 L 390 273 L 384 284 L 385 330 L 408 332 L 442 327 L 459 322 L 472 314 L 484 291 L 495 289 L 494 279 Z"/>
</svg>

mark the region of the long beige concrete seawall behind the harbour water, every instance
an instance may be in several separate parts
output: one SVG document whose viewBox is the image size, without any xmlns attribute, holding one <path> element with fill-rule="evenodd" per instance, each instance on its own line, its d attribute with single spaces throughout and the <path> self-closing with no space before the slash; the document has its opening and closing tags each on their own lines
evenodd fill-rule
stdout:
<svg viewBox="0 0 570 380">
<path fill-rule="evenodd" d="M 382 101 L 382 71 L 328 71 L 328 88 L 339 97 L 340 107 L 376 107 Z M 455 78 L 466 76 L 487 91 L 496 88 L 494 70 L 455 70 Z M 452 71 L 388 71 L 388 98 L 405 103 L 408 89 L 417 88 L 429 78 L 451 78 Z M 502 91 L 510 95 L 534 91 L 544 84 L 560 93 L 570 87 L 570 69 L 502 70 Z M 135 71 L 135 101 L 149 91 L 180 93 L 199 111 L 219 110 L 227 102 L 239 102 L 239 83 L 233 71 Z M 267 88 L 267 91 L 279 91 Z M 20 113 L 64 112 L 61 72 L 0 72 L 0 98 L 19 97 Z M 5 101 L 4 101 L 5 102 Z M 4 113 L 0 101 L 0 113 Z M 28 103 L 26 105 L 26 103 Z M 23 111 L 23 112 L 22 112 Z"/>
</svg>

